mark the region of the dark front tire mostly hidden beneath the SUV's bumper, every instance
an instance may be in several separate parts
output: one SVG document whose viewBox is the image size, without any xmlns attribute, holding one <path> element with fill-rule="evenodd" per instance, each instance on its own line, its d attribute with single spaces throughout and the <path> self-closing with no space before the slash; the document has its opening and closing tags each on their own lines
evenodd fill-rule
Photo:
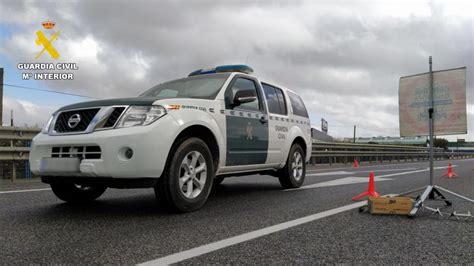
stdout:
<svg viewBox="0 0 474 266">
<path fill-rule="evenodd" d="M 97 199 L 104 194 L 107 187 L 82 186 L 73 183 L 52 183 L 51 189 L 54 195 L 63 201 L 81 203 Z"/>
</svg>

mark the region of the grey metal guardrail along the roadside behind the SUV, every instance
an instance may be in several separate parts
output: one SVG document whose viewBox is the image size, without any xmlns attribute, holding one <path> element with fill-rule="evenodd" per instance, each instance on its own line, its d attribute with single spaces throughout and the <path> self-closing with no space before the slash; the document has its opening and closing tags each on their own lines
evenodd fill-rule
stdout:
<svg viewBox="0 0 474 266">
<path fill-rule="evenodd" d="M 29 147 L 18 147 L 16 141 L 31 142 L 31 139 L 40 132 L 39 128 L 0 127 L 0 142 L 8 143 L 0 147 L 0 172 L 3 177 L 17 176 L 31 177 L 28 165 Z M 313 142 L 310 164 L 352 163 L 355 159 L 359 162 L 391 162 L 408 160 L 428 160 L 427 147 L 360 144 L 345 142 Z M 473 158 L 474 153 L 446 152 L 435 149 L 435 159 Z"/>
</svg>

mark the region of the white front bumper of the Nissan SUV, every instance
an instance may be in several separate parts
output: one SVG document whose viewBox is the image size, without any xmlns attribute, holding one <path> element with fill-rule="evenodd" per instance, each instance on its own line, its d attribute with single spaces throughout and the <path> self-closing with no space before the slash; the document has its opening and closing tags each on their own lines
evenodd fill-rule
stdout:
<svg viewBox="0 0 474 266">
<path fill-rule="evenodd" d="M 166 115 L 149 126 L 102 130 L 77 135 L 38 134 L 33 139 L 30 151 L 31 171 L 40 176 L 64 178 L 158 178 L 165 168 L 177 128 L 175 119 Z M 53 147 L 58 146 L 99 146 L 101 156 L 100 159 L 82 159 L 78 171 L 45 169 L 41 165 L 42 158 L 51 158 Z M 133 150 L 133 156 L 130 159 L 123 156 L 127 148 Z"/>
</svg>

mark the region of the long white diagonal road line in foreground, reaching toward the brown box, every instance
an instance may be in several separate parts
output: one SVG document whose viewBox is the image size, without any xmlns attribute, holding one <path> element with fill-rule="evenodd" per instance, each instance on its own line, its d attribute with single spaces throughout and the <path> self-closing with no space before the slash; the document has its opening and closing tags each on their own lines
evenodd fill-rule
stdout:
<svg viewBox="0 0 474 266">
<path fill-rule="evenodd" d="M 181 251 L 181 252 L 178 252 L 178 253 L 174 253 L 174 254 L 171 254 L 171 255 L 156 259 L 156 260 L 151 260 L 151 261 L 141 263 L 139 265 L 169 265 L 169 264 L 172 264 L 172 263 L 177 263 L 177 262 L 180 262 L 180 261 L 183 261 L 183 260 L 187 260 L 187 259 L 190 259 L 190 258 L 201 256 L 203 254 L 207 254 L 207 253 L 219 250 L 219 249 L 223 249 L 223 248 L 233 246 L 233 245 L 236 245 L 236 244 L 239 244 L 239 243 L 242 243 L 242 242 L 246 242 L 246 241 L 249 241 L 249 240 L 252 240 L 252 239 L 255 239 L 255 238 L 259 238 L 259 237 L 266 236 L 266 235 L 269 235 L 269 234 L 272 234 L 272 233 L 275 233 L 275 232 L 286 230 L 288 228 L 292 228 L 292 227 L 295 227 L 295 226 L 298 226 L 298 225 L 302 225 L 302 224 L 305 224 L 305 223 L 316 221 L 316 220 L 319 220 L 319 219 L 322 219 L 322 218 L 325 218 L 325 217 L 328 217 L 328 216 L 331 216 L 331 215 L 334 215 L 334 214 L 338 214 L 338 213 L 345 212 L 345 211 L 348 211 L 348 210 L 356 209 L 356 208 L 362 207 L 366 204 L 367 204 L 367 201 L 361 201 L 361 202 L 349 204 L 349 205 L 346 205 L 346 206 L 342 206 L 342 207 L 339 207 L 339 208 L 335 208 L 335 209 L 332 209 L 332 210 L 327 210 L 327 211 L 323 211 L 323 212 L 320 212 L 320 213 L 308 215 L 308 216 L 305 216 L 305 217 L 302 217 L 302 218 L 298 218 L 298 219 L 291 220 L 291 221 L 288 221 L 288 222 L 276 224 L 276 225 L 273 225 L 273 226 L 270 226 L 270 227 L 258 229 L 258 230 L 255 230 L 255 231 L 251 231 L 251 232 L 248 232 L 248 233 L 238 235 L 238 236 L 234 236 L 234 237 L 231 237 L 231 238 L 227 238 L 227 239 L 223 239 L 223 240 L 220 240 L 220 241 L 217 241 L 217 242 L 206 244 L 206 245 L 203 245 L 203 246 L 200 246 L 200 247 L 196 247 L 196 248 L 188 249 L 188 250 Z"/>
</svg>

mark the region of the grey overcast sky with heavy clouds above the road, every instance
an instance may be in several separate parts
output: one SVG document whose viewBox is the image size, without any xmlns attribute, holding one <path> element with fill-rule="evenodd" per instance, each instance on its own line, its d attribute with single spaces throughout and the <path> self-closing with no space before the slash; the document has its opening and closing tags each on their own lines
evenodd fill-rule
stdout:
<svg viewBox="0 0 474 266">
<path fill-rule="evenodd" d="M 336 137 L 352 125 L 358 136 L 399 136 L 399 78 L 426 72 L 432 55 L 435 70 L 467 67 L 469 134 L 450 139 L 474 141 L 473 16 L 473 1 L 0 0 L 0 66 L 5 83 L 111 98 L 247 62 L 302 95 L 316 128 L 324 118 Z M 57 62 L 80 68 L 74 81 L 20 80 L 16 64 L 35 62 L 45 20 L 61 31 Z M 79 100 L 10 87 L 4 113 L 41 125 Z"/>
</svg>

